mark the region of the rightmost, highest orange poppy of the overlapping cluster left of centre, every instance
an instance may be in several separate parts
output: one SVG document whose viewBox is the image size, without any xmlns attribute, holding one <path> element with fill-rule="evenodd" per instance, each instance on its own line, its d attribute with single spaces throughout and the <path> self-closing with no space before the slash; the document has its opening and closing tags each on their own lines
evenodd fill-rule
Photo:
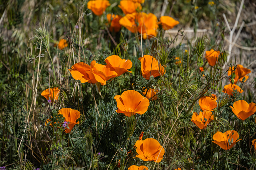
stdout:
<svg viewBox="0 0 256 170">
<path fill-rule="evenodd" d="M 131 73 L 128 69 L 132 68 L 131 60 L 121 59 L 119 56 L 112 55 L 105 59 L 107 63 L 106 67 L 109 68 L 111 71 L 115 71 L 117 76 L 120 76 L 126 72 Z"/>
</svg>

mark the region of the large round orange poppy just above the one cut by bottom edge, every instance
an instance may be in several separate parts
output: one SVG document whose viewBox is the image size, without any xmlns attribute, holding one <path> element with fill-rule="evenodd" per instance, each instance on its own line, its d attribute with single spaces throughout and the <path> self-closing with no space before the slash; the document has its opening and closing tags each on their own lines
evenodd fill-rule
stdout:
<svg viewBox="0 0 256 170">
<path fill-rule="evenodd" d="M 137 140 L 135 145 L 137 147 L 136 157 L 139 157 L 144 161 L 153 160 L 154 162 L 160 162 L 162 160 L 164 148 L 160 145 L 160 143 L 157 140 L 153 138 Z"/>
</svg>

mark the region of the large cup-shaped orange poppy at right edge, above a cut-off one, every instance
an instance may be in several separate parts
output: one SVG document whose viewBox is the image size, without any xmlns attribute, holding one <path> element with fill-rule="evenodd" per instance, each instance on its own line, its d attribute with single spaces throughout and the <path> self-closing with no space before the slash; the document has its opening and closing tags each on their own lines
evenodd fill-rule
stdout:
<svg viewBox="0 0 256 170">
<path fill-rule="evenodd" d="M 256 111 L 255 103 L 248 104 L 244 100 L 238 100 L 234 102 L 233 107 L 230 107 L 232 108 L 232 111 L 236 115 L 236 117 L 238 117 L 241 120 L 245 120 L 246 118 L 254 114 Z"/>
</svg>

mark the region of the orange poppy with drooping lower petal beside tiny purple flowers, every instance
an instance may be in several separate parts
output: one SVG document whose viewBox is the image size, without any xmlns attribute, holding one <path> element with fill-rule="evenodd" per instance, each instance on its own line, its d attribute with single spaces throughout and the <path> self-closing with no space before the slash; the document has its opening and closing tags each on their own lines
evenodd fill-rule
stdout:
<svg viewBox="0 0 256 170">
<path fill-rule="evenodd" d="M 66 128 L 65 132 L 70 133 L 75 124 L 79 124 L 76 120 L 80 117 L 80 112 L 70 108 L 62 108 L 59 110 L 59 114 L 62 114 L 65 118 L 65 122 L 68 123 L 69 129 Z"/>
</svg>

